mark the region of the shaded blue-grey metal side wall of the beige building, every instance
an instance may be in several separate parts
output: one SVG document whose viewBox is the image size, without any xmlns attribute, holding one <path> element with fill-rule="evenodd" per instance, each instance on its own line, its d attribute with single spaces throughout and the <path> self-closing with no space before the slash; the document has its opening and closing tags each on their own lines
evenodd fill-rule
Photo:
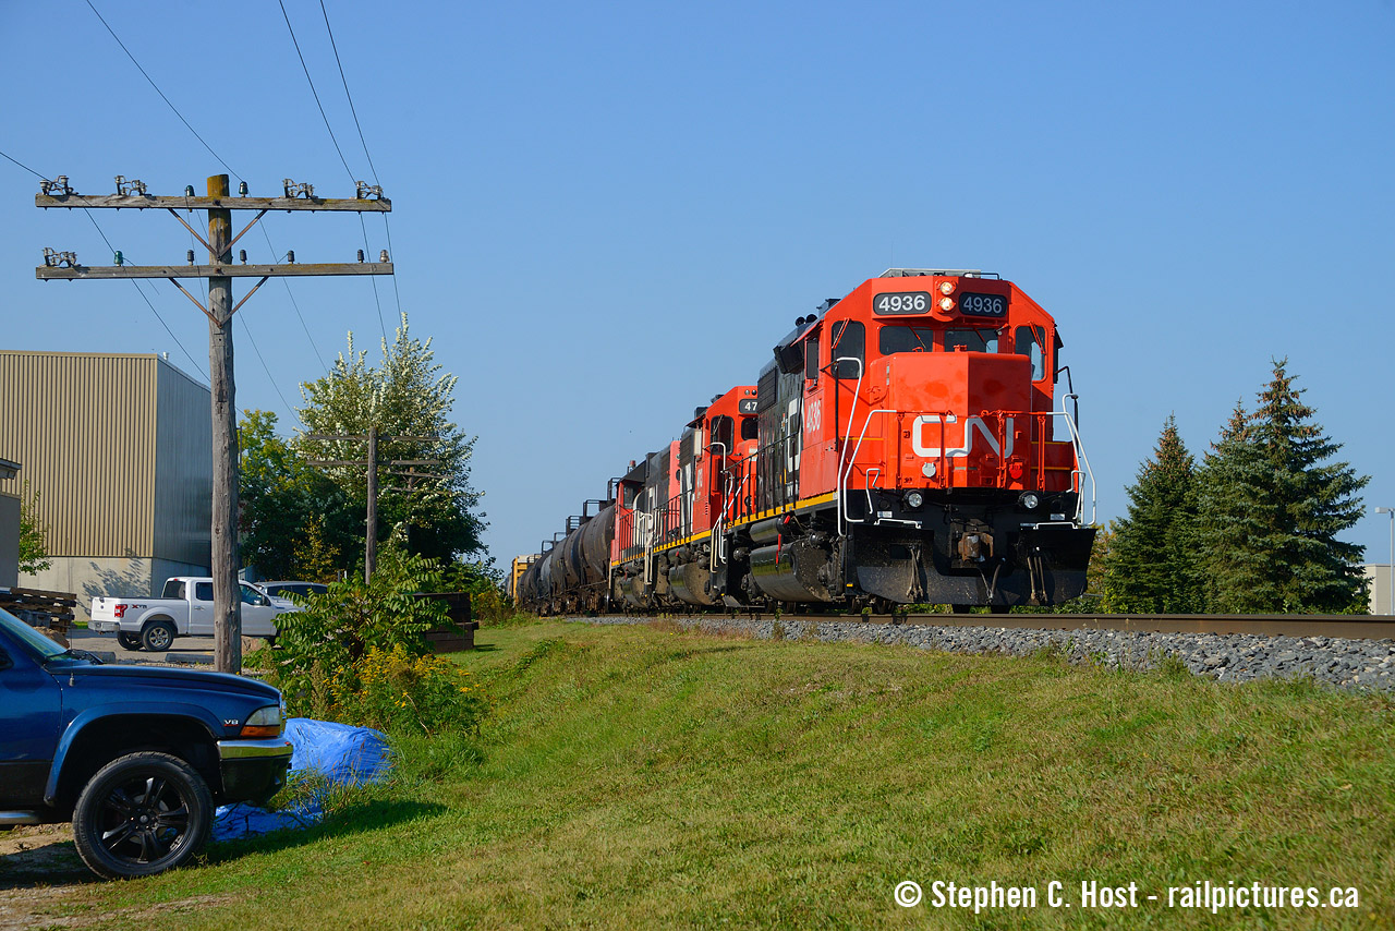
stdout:
<svg viewBox="0 0 1395 931">
<path fill-rule="evenodd" d="M 155 556 L 209 565 L 213 427 L 209 391 L 156 359 Z"/>
</svg>

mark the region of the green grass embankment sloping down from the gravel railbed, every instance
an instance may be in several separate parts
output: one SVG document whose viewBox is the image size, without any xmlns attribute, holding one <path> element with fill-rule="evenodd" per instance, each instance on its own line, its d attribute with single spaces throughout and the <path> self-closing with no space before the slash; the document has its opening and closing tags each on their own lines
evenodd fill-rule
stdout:
<svg viewBox="0 0 1395 931">
<path fill-rule="evenodd" d="M 650 627 L 478 639 L 460 657 L 497 701 L 478 752 L 414 741 L 395 786 L 321 828 L 61 911 L 149 927 L 151 906 L 208 896 L 165 913 L 188 930 L 1395 923 L 1388 698 Z M 903 879 L 926 900 L 897 907 Z M 975 917 L 930 909 L 936 879 L 1041 898 Z M 1046 904 L 1053 879 L 1074 907 Z M 1163 902 L 1087 910 L 1083 879 Z M 1356 886 L 1362 907 L 1163 907 L 1205 879 Z"/>
</svg>

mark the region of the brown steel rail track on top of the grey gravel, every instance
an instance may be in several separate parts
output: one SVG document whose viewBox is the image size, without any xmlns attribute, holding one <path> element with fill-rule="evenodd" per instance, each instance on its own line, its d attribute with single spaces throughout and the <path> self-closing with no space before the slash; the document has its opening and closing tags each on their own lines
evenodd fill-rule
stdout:
<svg viewBox="0 0 1395 931">
<path fill-rule="evenodd" d="M 699 616 L 691 616 L 699 617 Z M 1134 634 L 1254 634 L 1395 639 L 1395 616 L 1370 614 L 781 614 L 742 613 L 732 620 L 845 624 L 918 624 L 1032 631 L 1126 631 Z"/>
</svg>

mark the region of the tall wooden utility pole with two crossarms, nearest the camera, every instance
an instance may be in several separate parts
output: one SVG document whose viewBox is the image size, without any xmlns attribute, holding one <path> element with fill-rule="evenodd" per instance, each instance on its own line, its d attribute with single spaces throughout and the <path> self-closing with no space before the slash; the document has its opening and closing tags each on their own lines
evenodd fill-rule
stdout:
<svg viewBox="0 0 1395 931">
<path fill-rule="evenodd" d="M 126 265 L 121 253 L 113 257 L 113 267 L 80 265 L 74 253 L 43 250 L 43 265 L 35 269 L 40 281 L 74 281 L 89 278 L 167 278 L 172 285 L 184 292 L 208 317 L 208 363 L 209 388 L 212 389 L 213 426 L 213 519 L 212 519 L 212 569 L 213 569 L 213 664 L 223 673 L 240 673 L 243 667 L 241 648 L 241 599 L 237 590 L 237 403 L 233 380 L 233 314 L 266 283 L 269 278 L 310 275 L 391 275 L 392 262 L 386 251 L 382 261 L 365 262 L 363 251 L 357 262 L 297 265 L 294 253 L 290 261 L 272 265 L 248 265 L 246 250 L 240 264 L 233 264 L 233 246 L 247 230 L 271 209 L 283 211 L 331 211 L 331 212 L 388 212 L 392 201 L 382 197 L 382 188 L 359 181 L 356 195 L 350 198 L 317 198 L 310 184 L 296 184 L 286 179 L 283 197 L 247 197 L 243 183 L 239 197 L 232 197 L 226 174 L 208 179 L 208 197 L 195 197 L 193 187 L 184 188 L 184 197 L 153 197 L 145 193 L 141 181 L 127 181 L 116 177 L 114 195 L 88 197 L 78 194 L 66 176 L 45 180 L 42 193 L 33 198 L 39 208 L 112 208 L 112 209 L 167 209 L 193 236 L 208 248 L 208 265 L 195 265 L 194 253 L 188 253 L 187 265 Z M 208 239 L 205 240 L 190 226 L 177 211 L 208 211 Z M 232 211 L 258 211 L 257 216 L 233 236 Z M 180 278 L 202 278 L 208 281 L 208 307 L 188 293 Z M 236 306 L 233 304 L 233 278 L 261 278 Z"/>
</svg>

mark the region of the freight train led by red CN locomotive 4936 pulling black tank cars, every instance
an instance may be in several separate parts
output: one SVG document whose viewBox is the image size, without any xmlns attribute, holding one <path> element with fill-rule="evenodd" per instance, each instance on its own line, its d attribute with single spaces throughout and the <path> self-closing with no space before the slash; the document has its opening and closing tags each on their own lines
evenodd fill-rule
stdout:
<svg viewBox="0 0 1395 931">
<path fill-rule="evenodd" d="M 544 544 L 519 600 L 884 611 L 1076 597 L 1095 530 L 1060 346 L 1052 317 L 997 276 L 868 279 L 797 320 L 755 385 L 631 462 Z"/>
</svg>

